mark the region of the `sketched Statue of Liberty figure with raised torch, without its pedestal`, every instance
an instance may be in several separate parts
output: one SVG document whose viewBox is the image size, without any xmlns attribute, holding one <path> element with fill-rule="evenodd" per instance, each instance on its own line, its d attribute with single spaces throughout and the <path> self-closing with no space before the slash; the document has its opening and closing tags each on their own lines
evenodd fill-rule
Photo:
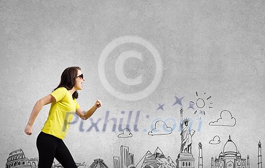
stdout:
<svg viewBox="0 0 265 168">
<path fill-rule="evenodd" d="M 181 146 L 180 153 L 191 153 L 191 144 L 192 144 L 192 136 L 195 133 L 194 130 L 191 130 L 189 127 L 189 119 L 183 118 L 183 109 L 180 109 L 180 128 L 181 128 Z"/>
</svg>

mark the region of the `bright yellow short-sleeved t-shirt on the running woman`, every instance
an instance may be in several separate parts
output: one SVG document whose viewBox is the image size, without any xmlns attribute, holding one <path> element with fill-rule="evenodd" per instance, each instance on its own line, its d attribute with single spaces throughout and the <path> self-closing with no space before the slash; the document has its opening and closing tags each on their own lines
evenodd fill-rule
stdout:
<svg viewBox="0 0 265 168">
<path fill-rule="evenodd" d="M 48 118 L 41 131 L 64 139 L 79 105 L 66 88 L 58 88 L 50 95 L 56 102 L 51 103 Z"/>
</svg>

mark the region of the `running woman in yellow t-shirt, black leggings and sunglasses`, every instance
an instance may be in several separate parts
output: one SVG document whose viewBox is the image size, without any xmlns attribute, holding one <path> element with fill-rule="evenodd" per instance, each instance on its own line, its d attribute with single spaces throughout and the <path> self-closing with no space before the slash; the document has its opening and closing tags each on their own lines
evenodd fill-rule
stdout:
<svg viewBox="0 0 265 168">
<path fill-rule="evenodd" d="M 38 100 L 33 107 L 28 123 L 25 128 L 27 135 L 32 134 L 32 125 L 44 105 L 50 104 L 48 118 L 37 137 L 37 149 L 39 154 L 38 168 L 51 167 L 56 158 L 65 168 L 77 167 L 75 161 L 66 147 L 63 139 L 69 129 L 73 115 L 76 113 L 86 120 L 101 107 L 97 100 L 90 110 L 83 113 L 76 99 L 78 90 L 82 90 L 84 76 L 80 67 L 68 67 L 61 75 L 59 86 L 51 94 Z"/>
</svg>

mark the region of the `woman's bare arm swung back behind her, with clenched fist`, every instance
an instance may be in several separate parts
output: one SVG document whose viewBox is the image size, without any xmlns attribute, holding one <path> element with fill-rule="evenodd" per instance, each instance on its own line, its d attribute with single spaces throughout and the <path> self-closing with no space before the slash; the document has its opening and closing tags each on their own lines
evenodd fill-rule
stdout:
<svg viewBox="0 0 265 168">
<path fill-rule="evenodd" d="M 27 135 L 31 135 L 32 134 L 32 125 L 33 125 L 37 115 L 39 114 L 41 108 L 43 106 L 45 106 L 47 104 L 50 104 L 50 103 L 53 103 L 53 102 L 56 102 L 56 99 L 53 96 L 51 96 L 51 95 L 47 95 L 44 98 L 41 98 L 40 100 L 38 100 L 36 102 L 36 104 L 33 107 L 32 112 L 30 114 L 30 117 L 29 117 L 28 123 L 26 125 L 26 128 L 25 128 L 25 133 Z"/>
</svg>

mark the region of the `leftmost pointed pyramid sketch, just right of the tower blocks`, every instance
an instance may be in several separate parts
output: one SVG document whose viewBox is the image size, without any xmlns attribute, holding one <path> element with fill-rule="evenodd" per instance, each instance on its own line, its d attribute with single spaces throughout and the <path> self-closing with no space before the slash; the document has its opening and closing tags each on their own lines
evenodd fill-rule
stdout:
<svg viewBox="0 0 265 168">
<path fill-rule="evenodd" d="M 160 163 L 154 158 L 149 150 L 135 167 L 143 168 L 144 166 L 149 166 L 150 168 L 158 168 L 160 166 Z"/>
</svg>

